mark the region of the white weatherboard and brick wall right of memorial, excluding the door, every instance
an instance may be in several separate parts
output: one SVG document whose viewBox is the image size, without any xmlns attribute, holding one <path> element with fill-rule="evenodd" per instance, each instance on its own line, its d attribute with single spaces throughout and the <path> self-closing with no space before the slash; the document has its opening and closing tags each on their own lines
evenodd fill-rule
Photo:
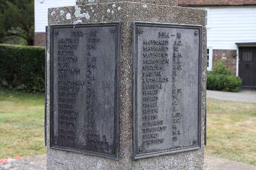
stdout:
<svg viewBox="0 0 256 170">
<path fill-rule="evenodd" d="M 211 65 L 226 59 L 226 65 L 238 76 L 236 43 L 256 42 L 256 6 L 197 7 L 207 10 L 207 48 L 212 50 Z M 236 54 L 235 53 L 235 54 Z M 211 70 L 208 68 L 208 70 Z"/>
</svg>

